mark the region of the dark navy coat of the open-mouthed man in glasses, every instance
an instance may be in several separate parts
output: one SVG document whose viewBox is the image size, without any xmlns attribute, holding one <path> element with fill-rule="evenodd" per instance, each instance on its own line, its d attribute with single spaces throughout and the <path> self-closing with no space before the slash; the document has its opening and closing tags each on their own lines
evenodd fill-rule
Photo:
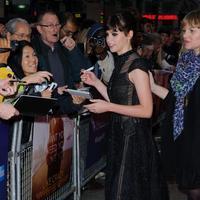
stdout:
<svg viewBox="0 0 200 200">
<path fill-rule="evenodd" d="M 48 51 L 50 47 L 38 36 L 33 39 L 32 44 L 34 45 L 39 59 L 38 70 L 51 72 L 48 60 Z M 69 51 L 64 48 L 60 42 L 57 42 L 56 48 L 63 66 L 65 85 L 68 85 L 69 88 L 74 88 L 75 83 L 80 81 L 80 70 L 88 68 L 90 64 L 77 47 Z M 80 105 L 73 104 L 71 95 L 68 93 L 63 95 L 57 94 L 55 97 L 58 98 L 56 114 L 72 114 L 81 108 Z"/>
</svg>

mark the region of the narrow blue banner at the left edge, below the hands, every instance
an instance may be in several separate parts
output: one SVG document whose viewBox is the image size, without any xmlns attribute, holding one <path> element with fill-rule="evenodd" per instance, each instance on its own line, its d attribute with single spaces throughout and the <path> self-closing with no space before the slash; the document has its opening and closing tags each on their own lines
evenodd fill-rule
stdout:
<svg viewBox="0 0 200 200">
<path fill-rule="evenodd" d="M 0 121 L 0 199 L 7 199 L 8 124 Z"/>
</svg>

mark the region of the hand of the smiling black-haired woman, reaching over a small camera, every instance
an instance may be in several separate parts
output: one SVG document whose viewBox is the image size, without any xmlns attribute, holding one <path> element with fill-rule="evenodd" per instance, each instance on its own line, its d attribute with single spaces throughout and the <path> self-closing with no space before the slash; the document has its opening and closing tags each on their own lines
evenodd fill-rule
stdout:
<svg viewBox="0 0 200 200">
<path fill-rule="evenodd" d="M 50 78 L 52 76 L 53 75 L 50 72 L 39 71 L 39 72 L 36 72 L 34 74 L 24 77 L 22 80 L 26 81 L 27 84 L 42 83 L 42 82 L 45 82 L 46 80 L 50 81 Z"/>
</svg>

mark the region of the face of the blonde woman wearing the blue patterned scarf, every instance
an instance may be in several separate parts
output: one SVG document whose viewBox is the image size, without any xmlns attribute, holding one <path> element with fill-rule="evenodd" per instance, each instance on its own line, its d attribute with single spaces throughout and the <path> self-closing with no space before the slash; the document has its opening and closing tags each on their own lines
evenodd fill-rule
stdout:
<svg viewBox="0 0 200 200">
<path fill-rule="evenodd" d="M 186 22 L 182 28 L 182 37 L 185 49 L 193 49 L 200 53 L 200 27 L 191 26 Z"/>
</svg>

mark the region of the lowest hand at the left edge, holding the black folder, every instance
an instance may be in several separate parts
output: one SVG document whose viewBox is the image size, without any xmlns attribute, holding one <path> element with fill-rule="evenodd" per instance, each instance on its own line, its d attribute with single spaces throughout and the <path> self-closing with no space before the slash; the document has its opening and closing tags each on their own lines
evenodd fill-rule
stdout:
<svg viewBox="0 0 200 200">
<path fill-rule="evenodd" d="M 10 119 L 19 115 L 19 112 L 15 109 L 15 107 L 8 103 L 0 103 L 0 118 L 1 119 Z"/>
</svg>

